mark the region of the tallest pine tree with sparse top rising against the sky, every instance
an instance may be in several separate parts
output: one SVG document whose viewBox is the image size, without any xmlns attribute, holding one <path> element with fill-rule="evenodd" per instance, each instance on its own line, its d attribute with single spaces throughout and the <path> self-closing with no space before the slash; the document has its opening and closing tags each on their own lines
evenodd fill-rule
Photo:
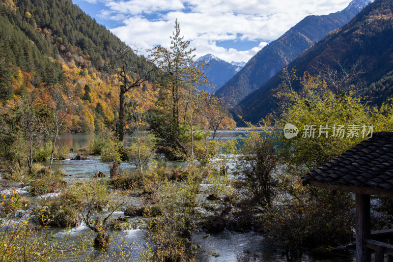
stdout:
<svg viewBox="0 0 393 262">
<path fill-rule="evenodd" d="M 150 50 L 151 57 L 156 60 L 161 73 L 162 91 L 157 106 L 156 116 L 152 118 L 151 128 L 155 135 L 161 138 L 161 146 L 177 149 L 187 153 L 179 136 L 180 130 L 180 108 L 182 118 L 186 119 L 191 107 L 190 98 L 194 96 L 199 81 L 204 79 L 203 74 L 197 69 L 192 53 L 194 49 L 189 48 L 190 41 L 184 41 L 180 36 L 180 25 L 175 20 L 174 32 L 169 49 L 156 46 Z M 169 98 L 169 99 L 168 99 Z M 183 115 L 184 114 L 184 115 Z M 192 122 L 191 122 L 192 123 Z M 170 155 L 168 155 L 170 157 Z"/>
</svg>

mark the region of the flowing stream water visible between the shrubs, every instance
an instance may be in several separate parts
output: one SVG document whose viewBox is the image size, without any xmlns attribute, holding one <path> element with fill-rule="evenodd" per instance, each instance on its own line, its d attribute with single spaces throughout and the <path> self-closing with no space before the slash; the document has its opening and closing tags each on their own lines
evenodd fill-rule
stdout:
<svg viewBox="0 0 393 262">
<path fill-rule="evenodd" d="M 234 139 L 238 137 L 238 135 L 242 135 L 244 132 L 240 131 L 219 131 L 218 137 L 221 139 Z M 94 134 L 61 134 L 61 139 L 58 140 L 58 146 L 67 146 L 68 148 L 73 148 L 75 151 L 79 148 L 83 148 L 88 145 L 90 140 L 94 137 Z M 126 137 L 125 141 L 128 142 L 130 137 Z M 70 154 L 69 157 L 74 157 L 75 154 Z M 59 167 L 64 169 L 64 171 L 71 175 L 66 176 L 64 179 L 88 179 L 92 175 L 96 174 L 99 171 L 104 172 L 105 174 L 109 174 L 109 164 L 100 161 L 99 156 L 87 156 L 85 160 L 70 160 L 66 159 L 63 161 L 56 161 L 55 168 Z M 48 164 L 48 163 L 43 163 Z M 175 165 L 179 165 L 179 163 L 174 163 Z M 130 165 L 128 163 L 123 162 L 120 169 L 133 169 L 135 166 Z M 12 192 L 12 187 L 3 187 L 0 188 L 2 192 Z M 29 197 L 28 188 L 18 188 L 18 192 L 25 197 Z M 32 201 L 38 201 L 42 198 L 53 197 L 56 193 L 38 196 L 35 198 L 31 198 Z M 114 217 L 124 216 L 124 212 L 115 212 Z M 80 223 L 78 227 L 65 230 L 62 228 L 51 228 L 53 233 L 55 233 L 56 237 L 65 236 L 67 234 L 70 235 L 68 241 L 79 241 L 80 237 L 78 235 L 86 235 L 89 234 L 90 231 L 84 223 Z M 204 238 L 203 235 L 205 233 L 200 232 L 196 233 L 194 236 L 194 244 L 200 245 L 201 249 L 205 250 L 205 252 L 198 253 L 197 261 L 198 262 L 249 262 L 249 261 L 263 261 L 263 262 L 286 262 L 285 256 L 282 255 L 283 250 L 277 250 L 276 247 L 271 246 L 264 236 L 260 233 L 255 232 L 246 232 L 246 233 L 237 233 L 237 232 L 229 232 L 224 231 L 221 233 L 211 234 L 210 237 Z M 92 236 L 92 239 L 94 236 Z M 125 239 L 130 245 L 134 241 L 137 241 L 138 245 L 133 245 L 132 254 L 135 257 L 138 257 L 138 254 L 144 247 L 146 243 L 145 239 L 145 231 L 141 229 L 134 230 L 125 230 L 118 232 L 118 235 L 114 237 L 114 241 L 111 242 L 108 253 L 110 252 L 119 252 L 116 243 L 121 241 L 121 239 Z M 87 247 L 90 250 L 93 250 L 93 253 L 97 256 L 101 254 L 100 250 L 94 250 L 91 246 L 91 243 L 87 243 Z M 219 254 L 217 258 L 209 254 L 209 252 Z M 71 250 L 66 250 L 66 253 L 71 254 Z M 67 260 L 69 261 L 69 260 Z M 308 255 L 303 255 L 302 261 L 305 262 L 353 262 L 354 258 L 354 250 L 349 249 L 347 251 L 343 251 L 337 253 L 336 256 L 332 257 L 312 257 Z"/>
</svg>

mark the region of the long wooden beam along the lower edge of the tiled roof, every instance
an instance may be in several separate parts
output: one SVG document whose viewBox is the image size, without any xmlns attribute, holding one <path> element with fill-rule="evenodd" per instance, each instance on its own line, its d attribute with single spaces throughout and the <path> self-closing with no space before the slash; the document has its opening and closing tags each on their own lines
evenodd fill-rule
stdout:
<svg viewBox="0 0 393 262">
<path fill-rule="evenodd" d="M 375 189 L 373 187 L 358 187 L 358 186 L 344 186 L 344 185 L 333 185 L 331 183 L 320 183 L 318 181 L 310 181 L 311 186 L 314 187 L 321 187 L 333 190 L 341 190 L 341 191 L 348 191 L 353 193 L 360 193 L 365 195 L 373 195 L 379 197 L 388 197 L 393 198 L 393 192 L 385 190 L 385 189 Z"/>
</svg>

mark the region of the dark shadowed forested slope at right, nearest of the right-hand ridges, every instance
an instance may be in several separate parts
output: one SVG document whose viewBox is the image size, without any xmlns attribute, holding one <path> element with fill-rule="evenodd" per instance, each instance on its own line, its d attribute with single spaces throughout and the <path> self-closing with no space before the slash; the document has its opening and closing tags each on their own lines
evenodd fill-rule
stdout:
<svg viewBox="0 0 393 262">
<path fill-rule="evenodd" d="M 351 22 L 337 29 L 303 52 L 288 65 L 297 74 L 316 73 L 321 64 L 338 69 L 338 63 L 350 68 L 359 63 L 367 82 L 365 94 L 371 104 L 380 105 L 393 94 L 393 1 L 375 0 Z M 338 62 L 338 63 L 337 63 Z M 266 84 L 244 98 L 239 105 L 246 120 L 257 122 L 276 108 L 272 89 L 282 82 L 277 73 Z M 299 85 L 294 83 L 294 88 Z"/>
</svg>

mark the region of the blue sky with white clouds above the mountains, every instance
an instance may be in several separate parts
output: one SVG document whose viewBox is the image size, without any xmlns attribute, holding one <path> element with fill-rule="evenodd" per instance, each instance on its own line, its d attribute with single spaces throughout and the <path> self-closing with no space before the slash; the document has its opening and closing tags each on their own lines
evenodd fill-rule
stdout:
<svg viewBox="0 0 393 262">
<path fill-rule="evenodd" d="M 170 46 L 175 19 L 200 57 L 247 62 L 308 15 L 344 9 L 351 0 L 73 0 L 122 41 L 147 55 Z"/>
</svg>

